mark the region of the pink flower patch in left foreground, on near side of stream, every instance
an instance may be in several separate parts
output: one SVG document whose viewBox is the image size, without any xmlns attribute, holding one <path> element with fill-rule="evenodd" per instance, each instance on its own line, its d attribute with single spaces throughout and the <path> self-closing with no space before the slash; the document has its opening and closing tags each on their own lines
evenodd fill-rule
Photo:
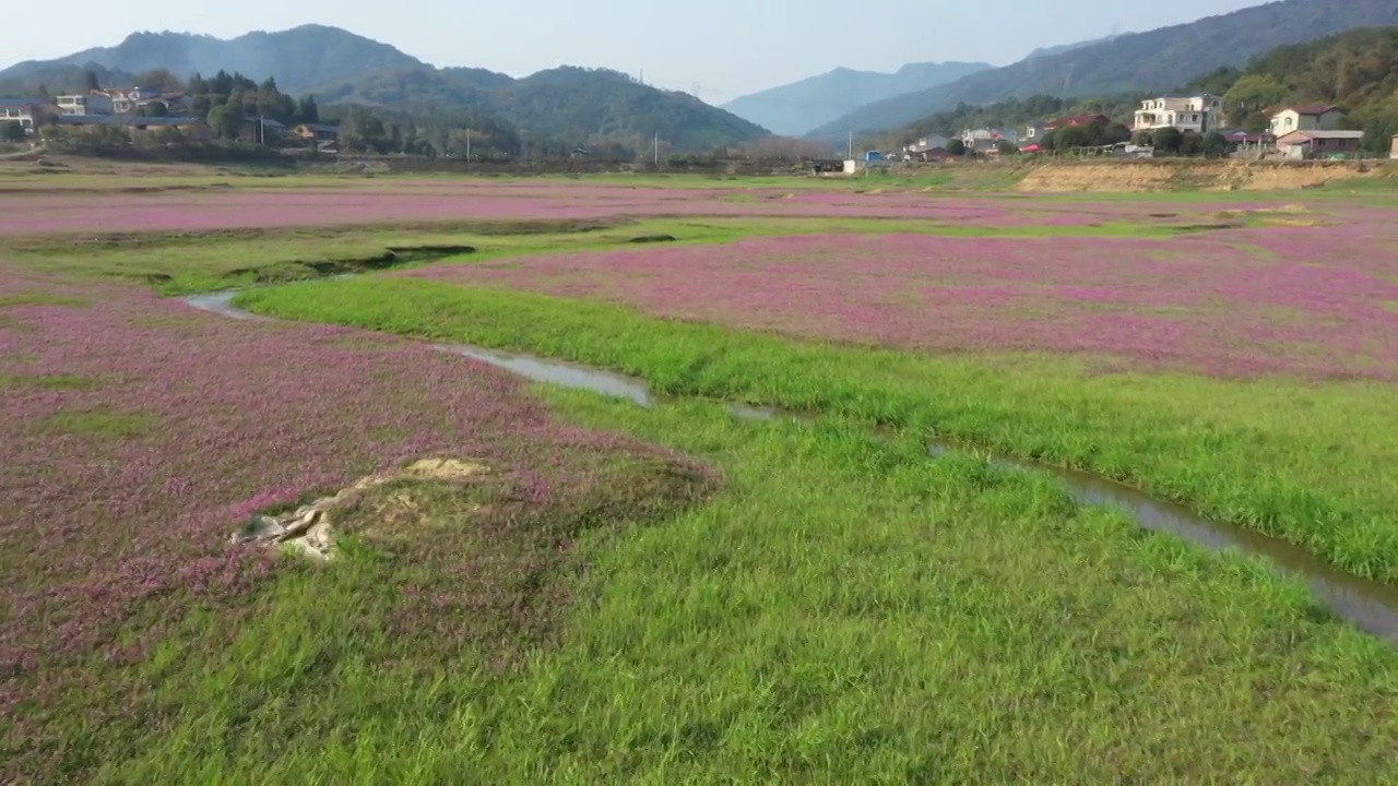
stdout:
<svg viewBox="0 0 1398 786">
<path fill-rule="evenodd" d="M 566 552 L 570 505 L 625 487 L 607 477 L 611 456 L 707 477 L 679 456 L 555 425 L 506 372 L 421 343 L 231 320 L 0 264 L 0 713 L 20 719 L 0 751 L 22 751 L 0 761 L 0 782 L 20 759 L 48 771 L 55 741 L 27 730 L 71 706 L 64 691 L 94 669 L 140 662 L 192 604 L 250 608 L 246 596 L 281 568 L 229 545 L 247 515 L 418 456 L 488 463 L 502 517 L 480 526 L 503 526 L 491 543 L 520 550 L 438 536 L 414 557 L 431 578 L 400 587 L 383 624 L 438 642 L 482 620 L 523 635 L 549 618 L 558 586 L 523 576 L 547 579 Z M 482 579 L 492 572 L 505 580 Z M 130 701 L 94 692 L 84 717 L 136 712 Z"/>
</svg>

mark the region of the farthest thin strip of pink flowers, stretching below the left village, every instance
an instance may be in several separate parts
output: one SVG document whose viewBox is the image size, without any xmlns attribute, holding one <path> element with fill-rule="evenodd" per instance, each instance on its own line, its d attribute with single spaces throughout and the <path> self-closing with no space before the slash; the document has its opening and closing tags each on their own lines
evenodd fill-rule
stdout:
<svg viewBox="0 0 1398 786">
<path fill-rule="evenodd" d="M 1145 220 L 1145 203 L 1079 206 L 1044 197 L 967 199 L 886 193 L 661 189 L 596 185 L 386 182 L 345 187 L 0 194 L 0 235 L 199 231 L 470 220 L 632 217 L 905 218 L 972 227 L 1089 225 Z"/>
</svg>

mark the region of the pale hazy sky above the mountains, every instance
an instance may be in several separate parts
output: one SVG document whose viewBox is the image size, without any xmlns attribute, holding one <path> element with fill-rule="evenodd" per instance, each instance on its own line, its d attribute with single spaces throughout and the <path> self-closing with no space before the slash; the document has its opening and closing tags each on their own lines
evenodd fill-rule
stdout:
<svg viewBox="0 0 1398 786">
<path fill-rule="evenodd" d="M 1141 32 L 1262 0 L 1169 3 L 966 3 L 888 0 L 530 0 L 403 6 L 365 0 L 69 0 L 62 34 L 43 4 L 0 0 L 0 67 L 112 46 L 137 29 L 231 38 L 308 22 L 365 35 L 436 66 L 512 76 L 559 64 L 644 70 L 672 90 L 721 103 L 836 66 L 889 71 L 924 60 L 1012 63 L 1039 46 Z"/>
</svg>

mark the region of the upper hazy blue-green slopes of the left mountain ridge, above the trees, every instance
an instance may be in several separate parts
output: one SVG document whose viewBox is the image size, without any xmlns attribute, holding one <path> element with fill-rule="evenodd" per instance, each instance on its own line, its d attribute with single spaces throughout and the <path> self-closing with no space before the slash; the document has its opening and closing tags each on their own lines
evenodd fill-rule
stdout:
<svg viewBox="0 0 1398 786">
<path fill-rule="evenodd" d="M 240 73 L 271 77 L 285 94 L 313 94 L 323 105 L 366 105 L 417 117 L 498 117 L 544 144 L 612 143 L 650 148 L 660 134 L 675 151 L 710 151 L 769 136 L 759 124 L 698 98 L 643 85 L 605 69 L 559 67 L 516 80 L 487 69 L 436 69 L 398 49 L 326 25 L 250 32 L 233 39 L 176 32 L 137 32 L 112 48 L 0 71 L 0 94 L 82 90 L 87 71 L 103 85 L 126 85 L 144 71 L 178 77 Z M 605 145 L 603 145 L 605 147 Z"/>
</svg>

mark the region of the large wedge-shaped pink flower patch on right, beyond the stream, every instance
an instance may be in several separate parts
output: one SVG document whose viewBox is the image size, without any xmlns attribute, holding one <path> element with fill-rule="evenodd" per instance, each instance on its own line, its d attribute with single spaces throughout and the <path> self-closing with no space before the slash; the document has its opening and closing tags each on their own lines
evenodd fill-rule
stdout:
<svg viewBox="0 0 1398 786">
<path fill-rule="evenodd" d="M 1398 232 L 1172 239 L 830 235 L 411 273 L 925 351 L 1074 352 L 1220 376 L 1398 378 Z"/>
</svg>

